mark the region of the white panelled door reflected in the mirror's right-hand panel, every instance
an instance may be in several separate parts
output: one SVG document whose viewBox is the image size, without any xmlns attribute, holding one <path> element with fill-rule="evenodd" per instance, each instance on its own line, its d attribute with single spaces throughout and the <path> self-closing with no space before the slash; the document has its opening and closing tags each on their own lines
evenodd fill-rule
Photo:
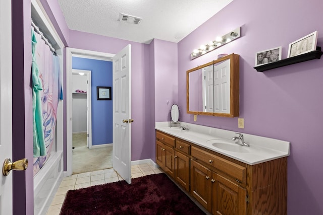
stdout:
<svg viewBox="0 0 323 215">
<path fill-rule="evenodd" d="M 230 59 L 214 64 L 214 113 L 230 113 Z"/>
</svg>

